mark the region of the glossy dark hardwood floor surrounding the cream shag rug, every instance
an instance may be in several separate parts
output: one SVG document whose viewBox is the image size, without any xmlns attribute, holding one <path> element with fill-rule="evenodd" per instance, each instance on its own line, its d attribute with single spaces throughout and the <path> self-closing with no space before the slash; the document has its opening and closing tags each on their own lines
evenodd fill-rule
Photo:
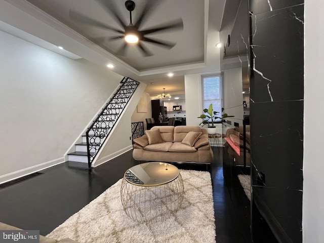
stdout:
<svg viewBox="0 0 324 243">
<path fill-rule="evenodd" d="M 209 171 L 213 184 L 216 241 L 245 242 L 224 185 L 223 149 L 214 148 L 213 151 L 214 163 Z M 0 188 L 0 221 L 22 229 L 39 229 L 46 235 L 137 164 L 132 151 L 128 151 L 91 171 L 68 163 L 43 170 L 41 175 Z M 175 165 L 179 169 L 206 171 L 203 165 Z"/>
</svg>

